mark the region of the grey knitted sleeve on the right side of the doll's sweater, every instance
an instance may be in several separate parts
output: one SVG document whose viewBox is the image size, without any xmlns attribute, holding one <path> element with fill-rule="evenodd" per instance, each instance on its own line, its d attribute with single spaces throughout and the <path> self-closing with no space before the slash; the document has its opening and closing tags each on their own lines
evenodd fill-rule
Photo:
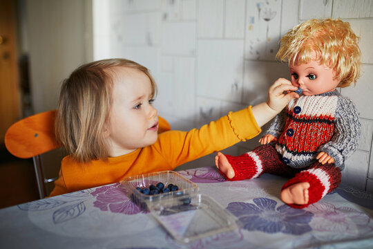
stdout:
<svg viewBox="0 0 373 249">
<path fill-rule="evenodd" d="M 338 98 L 335 120 L 332 139 L 319 147 L 318 152 L 325 151 L 329 156 L 332 156 L 336 167 L 343 170 L 345 160 L 358 147 L 361 133 L 358 111 L 349 98 L 343 96 Z"/>
</svg>

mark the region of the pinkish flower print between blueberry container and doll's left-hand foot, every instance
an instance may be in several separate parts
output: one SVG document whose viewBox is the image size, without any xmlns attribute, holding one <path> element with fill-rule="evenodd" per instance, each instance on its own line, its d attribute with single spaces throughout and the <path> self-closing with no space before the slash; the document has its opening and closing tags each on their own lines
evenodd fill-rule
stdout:
<svg viewBox="0 0 373 249">
<path fill-rule="evenodd" d="M 225 181 L 225 178 L 213 167 L 202 167 L 198 169 L 186 169 L 178 172 L 189 178 L 193 183 L 219 183 Z"/>
</svg>

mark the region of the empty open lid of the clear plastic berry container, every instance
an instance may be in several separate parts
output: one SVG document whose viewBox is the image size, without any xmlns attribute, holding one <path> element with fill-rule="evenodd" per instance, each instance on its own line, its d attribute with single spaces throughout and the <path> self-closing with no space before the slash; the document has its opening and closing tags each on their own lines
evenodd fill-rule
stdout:
<svg viewBox="0 0 373 249">
<path fill-rule="evenodd" d="M 181 243 L 238 228 L 236 217 L 204 194 L 165 199 L 151 213 Z"/>
</svg>

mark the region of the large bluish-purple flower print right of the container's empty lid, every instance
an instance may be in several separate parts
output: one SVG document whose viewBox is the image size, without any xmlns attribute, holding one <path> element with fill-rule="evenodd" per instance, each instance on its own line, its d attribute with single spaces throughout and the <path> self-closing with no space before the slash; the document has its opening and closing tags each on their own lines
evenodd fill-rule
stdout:
<svg viewBox="0 0 373 249">
<path fill-rule="evenodd" d="M 246 230 L 297 235 L 312 230 L 309 221 L 314 214 L 311 212 L 290 208 L 288 205 L 276 208 L 277 202 L 268 198 L 256 198 L 253 201 L 255 204 L 233 202 L 227 207 Z"/>
</svg>

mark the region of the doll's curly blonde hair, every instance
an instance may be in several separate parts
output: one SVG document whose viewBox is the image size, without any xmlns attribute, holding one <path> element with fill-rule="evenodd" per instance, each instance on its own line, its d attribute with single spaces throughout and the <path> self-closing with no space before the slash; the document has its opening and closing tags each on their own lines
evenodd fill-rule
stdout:
<svg viewBox="0 0 373 249">
<path fill-rule="evenodd" d="M 312 51 L 320 64 L 333 68 L 338 87 L 350 86 L 360 77 L 361 51 L 348 22 L 341 19 L 311 19 L 291 29 L 280 39 L 276 58 L 289 66 L 310 62 Z"/>
</svg>

